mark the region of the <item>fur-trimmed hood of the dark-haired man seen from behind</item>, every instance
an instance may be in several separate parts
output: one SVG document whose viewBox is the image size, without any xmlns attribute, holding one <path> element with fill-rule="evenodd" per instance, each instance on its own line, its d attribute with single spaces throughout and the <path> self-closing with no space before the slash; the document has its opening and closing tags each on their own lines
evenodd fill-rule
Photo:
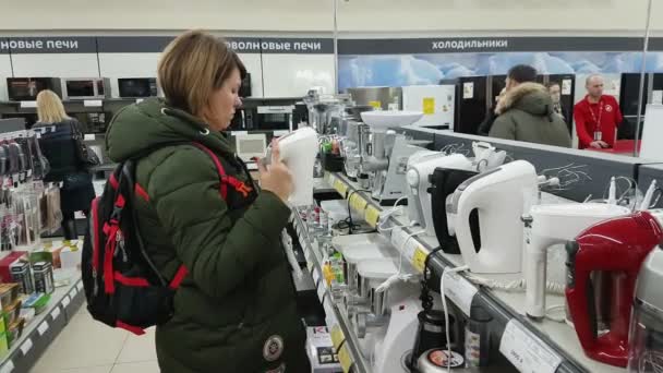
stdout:
<svg viewBox="0 0 663 373">
<path fill-rule="evenodd" d="M 539 83 L 522 83 L 506 95 L 497 104 L 497 113 L 510 109 L 519 109 L 537 117 L 553 115 L 553 99 L 545 86 Z"/>
</svg>

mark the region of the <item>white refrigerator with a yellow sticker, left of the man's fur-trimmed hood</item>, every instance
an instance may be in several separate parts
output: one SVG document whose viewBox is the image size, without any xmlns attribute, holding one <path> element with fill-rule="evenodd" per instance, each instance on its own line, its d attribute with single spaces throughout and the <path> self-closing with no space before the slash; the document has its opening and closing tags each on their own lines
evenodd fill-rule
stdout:
<svg viewBox="0 0 663 373">
<path fill-rule="evenodd" d="M 402 109 L 421 111 L 413 125 L 454 130 L 456 85 L 411 85 L 402 87 Z"/>
</svg>

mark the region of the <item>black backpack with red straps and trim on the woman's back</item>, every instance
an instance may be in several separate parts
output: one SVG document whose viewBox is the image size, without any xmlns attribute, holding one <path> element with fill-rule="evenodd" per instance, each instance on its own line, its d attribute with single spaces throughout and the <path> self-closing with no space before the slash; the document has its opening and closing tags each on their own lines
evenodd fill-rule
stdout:
<svg viewBox="0 0 663 373">
<path fill-rule="evenodd" d="M 244 186 L 238 179 L 226 175 L 219 158 L 209 148 L 198 143 L 186 144 L 212 158 L 219 173 L 224 200 L 228 185 L 236 189 Z M 83 243 L 82 273 L 87 310 L 92 316 L 109 326 L 142 335 L 145 328 L 164 324 L 172 317 L 172 299 L 188 270 L 181 265 L 174 277 L 168 280 L 145 251 L 140 227 L 135 224 L 135 209 L 131 205 L 134 195 L 149 201 L 145 190 L 135 182 L 136 160 L 120 164 L 106 182 L 104 194 L 92 203 Z"/>
</svg>

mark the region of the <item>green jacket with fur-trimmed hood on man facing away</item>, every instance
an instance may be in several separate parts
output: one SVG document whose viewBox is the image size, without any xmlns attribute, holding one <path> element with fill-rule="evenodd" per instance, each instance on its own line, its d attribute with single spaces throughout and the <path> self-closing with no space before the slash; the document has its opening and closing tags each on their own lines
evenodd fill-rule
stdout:
<svg viewBox="0 0 663 373">
<path fill-rule="evenodd" d="M 545 86 L 522 83 L 497 104 L 497 119 L 490 136 L 553 146 L 571 146 L 571 135 L 562 116 L 553 111 Z"/>
</svg>

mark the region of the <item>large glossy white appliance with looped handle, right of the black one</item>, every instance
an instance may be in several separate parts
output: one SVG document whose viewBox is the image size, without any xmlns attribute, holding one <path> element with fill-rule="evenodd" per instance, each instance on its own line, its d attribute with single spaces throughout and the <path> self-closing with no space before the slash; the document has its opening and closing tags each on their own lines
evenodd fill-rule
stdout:
<svg viewBox="0 0 663 373">
<path fill-rule="evenodd" d="M 534 166 L 516 160 L 461 183 L 448 208 L 456 214 L 456 237 L 471 272 L 520 273 L 523 229 L 520 218 L 529 212 L 539 186 Z M 481 246 L 475 248 L 470 214 L 478 209 Z M 478 249 L 478 250 L 477 250 Z"/>
</svg>

